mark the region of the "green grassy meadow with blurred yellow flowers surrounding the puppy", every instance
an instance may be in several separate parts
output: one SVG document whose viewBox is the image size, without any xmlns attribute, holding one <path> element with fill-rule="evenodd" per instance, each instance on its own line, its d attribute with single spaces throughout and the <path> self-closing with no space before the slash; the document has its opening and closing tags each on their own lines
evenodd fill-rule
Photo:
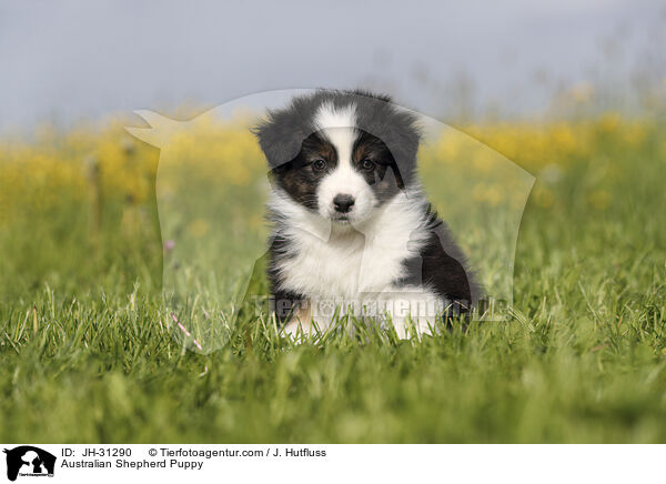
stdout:
<svg viewBox="0 0 666 484">
<path fill-rule="evenodd" d="M 664 121 L 456 127 L 536 178 L 509 320 L 295 345 L 241 312 L 210 352 L 172 324 L 163 274 L 201 300 L 242 292 L 265 238 L 264 160 L 242 123 L 201 127 L 170 160 L 127 123 L 0 141 L 0 441 L 666 442 Z M 453 169 L 438 160 L 483 173 L 480 153 L 445 135 L 423 150 L 435 204 Z M 178 200 L 200 215 L 162 218 L 158 162 L 182 169 Z M 509 192 L 483 181 L 466 196 L 487 215 Z"/>
</svg>

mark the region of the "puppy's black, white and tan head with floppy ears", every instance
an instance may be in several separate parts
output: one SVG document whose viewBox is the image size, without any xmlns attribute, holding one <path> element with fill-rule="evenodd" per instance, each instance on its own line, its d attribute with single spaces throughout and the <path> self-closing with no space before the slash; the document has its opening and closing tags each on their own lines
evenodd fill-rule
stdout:
<svg viewBox="0 0 666 484">
<path fill-rule="evenodd" d="M 389 98 L 320 91 L 255 129 L 272 181 L 322 218 L 361 222 L 411 182 L 415 118 Z"/>
</svg>

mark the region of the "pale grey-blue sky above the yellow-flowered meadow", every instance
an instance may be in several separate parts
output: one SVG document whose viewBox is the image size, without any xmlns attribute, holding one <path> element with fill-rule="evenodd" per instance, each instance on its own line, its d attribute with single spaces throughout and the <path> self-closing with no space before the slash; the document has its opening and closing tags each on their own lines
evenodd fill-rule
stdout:
<svg viewBox="0 0 666 484">
<path fill-rule="evenodd" d="M 444 120 L 464 100 L 538 112 L 563 87 L 622 85 L 665 26 L 653 0 L 0 0 L 0 132 L 316 87 Z"/>
</svg>

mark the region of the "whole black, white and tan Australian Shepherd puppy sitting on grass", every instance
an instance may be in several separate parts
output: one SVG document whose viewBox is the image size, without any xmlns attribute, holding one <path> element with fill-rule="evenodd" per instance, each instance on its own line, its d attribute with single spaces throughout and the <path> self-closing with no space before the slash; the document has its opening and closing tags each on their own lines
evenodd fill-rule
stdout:
<svg viewBox="0 0 666 484">
<path fill-rule="evenodd" d="M 255 133 L 272 180 L 268 275 L 287 334 L 353 315 L 408 337 L 470 314 L 480 291 L 416 180 L 414 114 L 383 95 L 317 91 Z"/>
</svg>

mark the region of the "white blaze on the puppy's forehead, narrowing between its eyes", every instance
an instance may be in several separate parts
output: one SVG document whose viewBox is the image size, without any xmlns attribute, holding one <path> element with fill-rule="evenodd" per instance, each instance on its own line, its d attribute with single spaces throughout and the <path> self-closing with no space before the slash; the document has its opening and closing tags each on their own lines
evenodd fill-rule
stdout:
<svg viewBox="0 0 666 484">
<path fill-rule="evenodd" d="M 314 115 L 314 124 L 335 148 L 340 165 L 351 165 L 357 137 L 356 104 L 336 108 L 332 102 L 324 102 Z"/>
</svg>

